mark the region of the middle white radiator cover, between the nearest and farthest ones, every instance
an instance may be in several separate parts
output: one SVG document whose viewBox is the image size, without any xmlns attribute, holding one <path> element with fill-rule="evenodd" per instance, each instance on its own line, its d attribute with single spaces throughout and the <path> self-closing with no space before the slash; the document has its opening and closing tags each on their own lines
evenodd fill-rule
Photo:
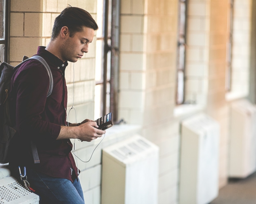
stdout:
<svg viewBox="0 0 256 204">
<path fill-rule="evenodd" d="M 201 113 L 181 124 L 180 203 L 207 204 L 219 192 L 218 122 Z"/>
</svg>

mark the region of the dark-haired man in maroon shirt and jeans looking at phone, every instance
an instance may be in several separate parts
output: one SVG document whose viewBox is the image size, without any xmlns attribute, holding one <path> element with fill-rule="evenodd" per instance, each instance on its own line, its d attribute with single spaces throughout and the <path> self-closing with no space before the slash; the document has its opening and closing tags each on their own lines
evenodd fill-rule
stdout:
<svg viewBox="0 0 256 204">
<path fill-rule="evenodd" d="M 47 47 L 37 54 L 48 63 L 53 75 L 53 90 L 47 96 L 49 76 L 36 60 L 25 62 L 13 75 L 10 109 L 17 133 L 10 147 L 9 166 L 20 181 L 19 169 L 26 166 L 27 181 L 43 203 L 84 203 L 78 169 L 71 154 L 70 138 L 92 141 L 105 134 L 96 122 L 86 119 L 81 125 L 66 122 L 67 87 L 65 68 L 88 52 L 98 26 L 85 10 L 68 7 L 55 19 Z M 33 163 L 30 141 L 36 144 L 40 164 Z"/>
</svg>

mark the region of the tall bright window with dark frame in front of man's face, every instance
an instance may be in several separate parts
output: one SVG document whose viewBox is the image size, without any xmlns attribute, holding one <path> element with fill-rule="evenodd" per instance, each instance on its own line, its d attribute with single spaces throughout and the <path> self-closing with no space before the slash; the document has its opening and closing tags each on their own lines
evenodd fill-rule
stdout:
<svg viewBox="0 0 256 204">
<path fill-rule="evenodd" d="M 98 0 L 95 69 L 95 118 L 109 112 L 117 119 L 119 0 Z"/>
</svg>

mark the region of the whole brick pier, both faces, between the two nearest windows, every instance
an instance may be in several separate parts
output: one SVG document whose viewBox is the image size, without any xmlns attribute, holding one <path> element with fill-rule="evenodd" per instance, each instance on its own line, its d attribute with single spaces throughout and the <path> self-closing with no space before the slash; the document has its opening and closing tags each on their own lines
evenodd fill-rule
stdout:
<svg viewBox="0 0 256 204">
<path fill-rule="evenodd" d="M 179 123 L 173 118 L 177 0 L 121 1 L 119 118 L 160 147 L 159 203 L 177 203 Z"/>
</svg>

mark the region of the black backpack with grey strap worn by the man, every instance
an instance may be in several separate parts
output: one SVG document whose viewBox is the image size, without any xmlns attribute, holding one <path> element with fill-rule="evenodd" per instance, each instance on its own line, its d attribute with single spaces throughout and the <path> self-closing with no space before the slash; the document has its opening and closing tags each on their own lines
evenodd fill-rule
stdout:
<svg viewBox="0 0 256 204">
<path fill-rule="evenodd" d="M 23 57 L 23 62 L 19 65 L 13 67 L 12 65 L 3 62 L 0 64 L 0 163 L 6 164 L 8 163 L 7 153 L 9 151 L 10 141 L 13 135 L 16 133 L 16 128 L 11 123 L 10 112 L 9 112 L 9 91 L 11 86 L 11 79 L 14 72 L 27 60 L 38 60 L 41 62 L 49 75 L 50 78 L 50 87 L 48 90 L 47 97 L 52 93 L 53 88 L 53 79 L 52 72 L 49 68 L 49 65 L 40 56 L 33 56 L 28 58 L 27 56 Z M 32 154 L 34 158 L 34 163 L 39 163 L 40 160 L 38 158 L 36 145 L 33 141 L 31 141 Z"/>
</svg>

